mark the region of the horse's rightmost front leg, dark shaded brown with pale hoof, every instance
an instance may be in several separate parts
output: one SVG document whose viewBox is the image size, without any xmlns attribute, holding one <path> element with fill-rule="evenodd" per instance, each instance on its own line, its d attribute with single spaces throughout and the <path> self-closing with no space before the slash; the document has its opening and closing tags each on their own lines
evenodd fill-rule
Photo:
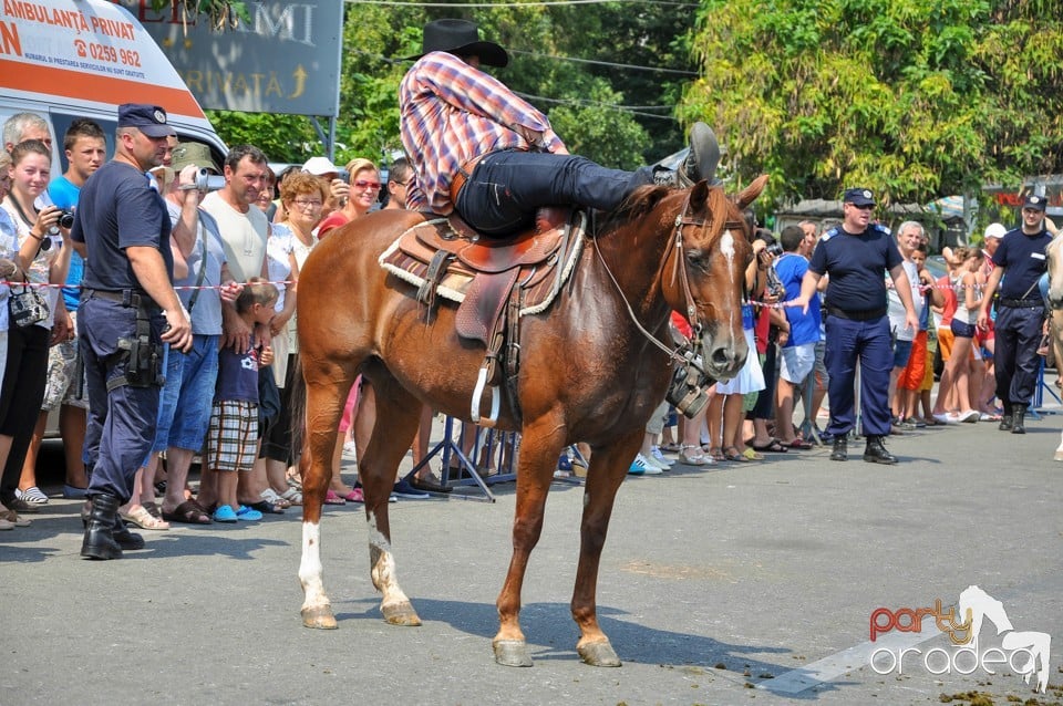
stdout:
<svg viewBox="0 0 1063 706">
<path fill-rule="evenodd" d="M 580 522 L 579 567 L 576 570 L 571 611 L 572 620 L 579 625 L 580 632 L 576 652 L 584 662 L 596 667 L 620 666 L 620 657 L 598 624 L 598 567 L 601 563 L 601 550 L 606 544 L 617 490 L 628 475 L 642 436 L 643 432 L 639 429 L 612 446 L 595 448 L 590 456 L 590 467 L 587 469 L 584 517 Z"/>
</svg>

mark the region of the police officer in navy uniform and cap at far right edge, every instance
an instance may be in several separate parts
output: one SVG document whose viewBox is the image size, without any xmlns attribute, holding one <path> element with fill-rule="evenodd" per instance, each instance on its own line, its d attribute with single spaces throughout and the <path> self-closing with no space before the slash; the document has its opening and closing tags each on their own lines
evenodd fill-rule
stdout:
<svg viewBox="0 0 1063 706">
<path fill-rule="evenodd" d="M 999 287 L 993 352 L 997 397 L 1004 407 L 999 428 L 1012 434 L 1026 433 L 1024 417 L 1038 385 L 1038 342 L 1044 321 L 1044 300 L 1038 281 L 1047 269 L 1044 249 L 1052 242 L 1044 227 L 1046 205 L 1043 196 L 1031 195 L 1023 200 L 1022 226 L 1004 233 L 993 253 L 997 267 L 985 282 L 978 311 L 978 326 L 984 329 Z"/>
</svg>

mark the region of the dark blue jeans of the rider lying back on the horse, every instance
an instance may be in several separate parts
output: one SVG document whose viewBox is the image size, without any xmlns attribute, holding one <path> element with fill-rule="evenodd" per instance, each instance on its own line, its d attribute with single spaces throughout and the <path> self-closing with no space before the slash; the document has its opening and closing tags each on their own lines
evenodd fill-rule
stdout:
<svg viewBox="0 0 1063 706">
<path fill-rule="evenodd" d="M 576 155 L 505 149 L 477 163 L 455 207 L 473 228 L 507 236 L 532 226 L 544 206 L 612 210 L 636 187 L 652 183 L 652 167 L 623 172 Z"/>
</svg>

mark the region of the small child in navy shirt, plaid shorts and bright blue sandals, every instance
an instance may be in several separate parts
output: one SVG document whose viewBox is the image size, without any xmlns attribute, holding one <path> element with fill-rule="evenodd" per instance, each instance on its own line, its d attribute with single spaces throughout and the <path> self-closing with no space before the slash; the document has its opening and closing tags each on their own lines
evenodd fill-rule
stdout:
<svg viewBox="0 0 1063 706">
<path fill-rule="evenodd" d="M 252 277 L 236 300 L 236 311 L 251 330 L 269 325 L 277 298 L 275 285 Z M 237 474 L 250 473 L 258 458 L 258 368 L 272 362 L 270 347 L 259 345 L 254 335 L 246 351 L 225 347 L 219 353 L 206 453 L 218 499 L 215 522 L 262 519 L 261 512 L 237 501 Z"/>
</svg>

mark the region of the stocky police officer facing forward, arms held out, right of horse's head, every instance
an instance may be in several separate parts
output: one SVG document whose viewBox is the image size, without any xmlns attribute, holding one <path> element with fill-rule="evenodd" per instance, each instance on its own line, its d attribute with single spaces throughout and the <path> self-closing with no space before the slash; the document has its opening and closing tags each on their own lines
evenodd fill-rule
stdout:
<svg viewBox="0 0 1063 706">
<path fill-rule="evenodd" d="M 826 432 L 834 436 L 830 460 L 848 458 L 846 437 L 856 425 L 853 387 L 859 363 L 860 413 L 867 437 L 864 460 L 896 464 L 897 457 L 883 444 L 890 429 L 889 372 L 894 364 L 884 271 L 889 272 L 905 305 L 905 324 L 918 330 L 919 320 L 897 243 L 888 229 L 870 222 L 874 195 L 869 189 L 847 189 L 843 200 L 842 225 L 819 238 L 801 295 L 791 303 L 807 311 L 819 280 L 828 276 L 823 311 L 825 362 L 830 374 L 830 424 Z"/>
</svg>

